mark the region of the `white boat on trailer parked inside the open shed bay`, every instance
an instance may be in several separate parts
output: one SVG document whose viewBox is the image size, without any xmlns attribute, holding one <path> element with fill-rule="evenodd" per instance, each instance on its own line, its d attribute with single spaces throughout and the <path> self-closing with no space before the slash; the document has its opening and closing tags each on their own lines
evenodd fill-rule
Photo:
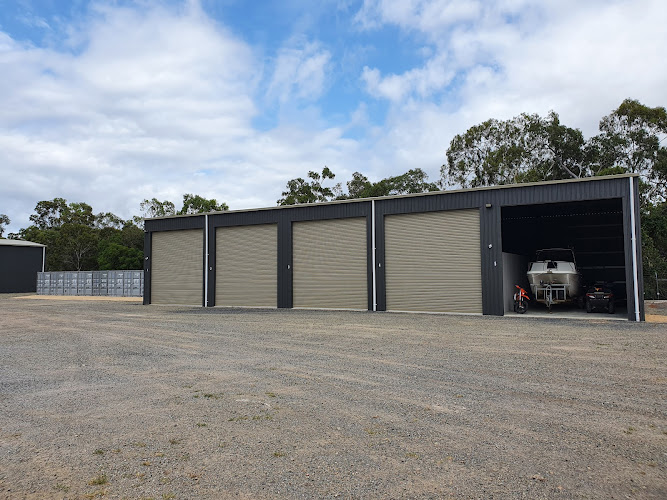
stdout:
<svg viewBox="0 0 667 500">
<path fill-rule="evenodd" d="M 571 302 L 580 294 L 580 275 L 569 248 L 537 251 L 537 260 L 528 264 L 528 283 L 535 300 L 547 306 Z"/>
</svg>

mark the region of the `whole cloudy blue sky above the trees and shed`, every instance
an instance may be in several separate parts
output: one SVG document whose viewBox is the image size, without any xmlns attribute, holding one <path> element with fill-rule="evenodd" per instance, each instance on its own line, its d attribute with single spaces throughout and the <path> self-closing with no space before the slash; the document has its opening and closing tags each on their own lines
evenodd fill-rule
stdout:
<svg viewBox="0 0 667 500">
<path fill-rule="evenodd" d="M 436 181 L 455 134 L 521 112 L 590 136 L 627 97 L 666 104 L 666 5 L 0 0 L 0 213 L 273 206 L 324 165 Z"/>
</svg>

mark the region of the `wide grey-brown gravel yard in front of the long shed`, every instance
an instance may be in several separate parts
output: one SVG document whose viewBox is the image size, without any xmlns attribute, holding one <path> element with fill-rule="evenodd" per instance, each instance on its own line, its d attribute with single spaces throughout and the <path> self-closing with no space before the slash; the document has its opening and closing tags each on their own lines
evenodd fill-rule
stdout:
<svg viewBox="0 0 667 500">
<path fill-rule="evenodd" d="M 0 296 L 0 498 L 667 498 L 664 324 Z"/>
</svg>

